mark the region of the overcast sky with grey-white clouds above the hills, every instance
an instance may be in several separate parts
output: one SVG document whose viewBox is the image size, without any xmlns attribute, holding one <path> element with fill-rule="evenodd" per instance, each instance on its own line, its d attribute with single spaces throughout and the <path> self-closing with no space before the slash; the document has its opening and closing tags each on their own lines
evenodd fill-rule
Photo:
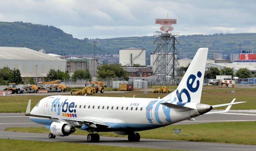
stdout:
<svg viewBox="0 0 256 151">
<path fill-rule="evenodd" d="M 180 35 L 256 33 L 256 0 L 0 0 L 0 22 L 53 25 L 79 39 L 152 36 L 167 13 Z"/>
</svg>

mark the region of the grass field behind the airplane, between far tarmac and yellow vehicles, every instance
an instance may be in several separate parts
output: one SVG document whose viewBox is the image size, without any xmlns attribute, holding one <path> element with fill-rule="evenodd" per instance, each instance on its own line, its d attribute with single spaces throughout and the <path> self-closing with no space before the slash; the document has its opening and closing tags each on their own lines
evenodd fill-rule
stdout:
<svg viewBox="0 0 256 151">
<path fill-rule="evenodd" d="M 176 87 L 171 87 L 174 90 Z M 234 90 L 235 93 L 231 93 Z M 209 88 L 204 87 L 202 90 L 201 103 L 204 104 L 223 104 L 229 103 L 236 98 L 238 101 L 247 101 L 246 103 L 233 105 L 231 110 L 255 110 L 256 109 L 256 88 Z M 50 95 L 50 94 L 49 94 Z M 67 95 L 70 95 L 69 93 Z M 167 93 L 152 93 L 151 91 L 134 90 L 123 93 L 97 93 L 92 96 L 115 96 L 115 97 L 135 97 L 137 98 L 163 98 Z M 31 99 L 31 106 L 35 106 L 42 98 L 46 96 L 0 96 L 1 108 L 0 112 L 25 112 L 28 100 Z M 219 108 L 224 109 L 225 107 Z"/>
</svg>

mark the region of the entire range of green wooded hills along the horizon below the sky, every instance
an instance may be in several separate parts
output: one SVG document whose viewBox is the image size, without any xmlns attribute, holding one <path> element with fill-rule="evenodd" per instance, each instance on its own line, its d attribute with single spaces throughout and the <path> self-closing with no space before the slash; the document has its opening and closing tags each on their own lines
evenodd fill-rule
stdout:
<svg viewBox="0 0 256 151">
<path fill-rule="evenodd" d="M 23 22 L 0 22 L 0 46 L 28 47 L 34 50 L 45 49 L 47 53 L 62 55 L 93 54 L 92 40 L 77 39 L 64 33 L 61 29 L 48 25 L 36 25 Z M 154 37 L 120 37 L 112 39 L 93 39 L 96 43 L 96 54 L 118 54 L 119 49 L 137 47 L 146 48 L 146 63 L 150 62 L 150 53 L 154 52 Z M 200 47 L 209 47 L 208 57 L 214 53 L 230 56 L 241 49 L 252 51 L 256 48 L 256 33 L 214 34 L 214 35 L 181 35 L 180 58 L 192 58 Z"/>
</svg>

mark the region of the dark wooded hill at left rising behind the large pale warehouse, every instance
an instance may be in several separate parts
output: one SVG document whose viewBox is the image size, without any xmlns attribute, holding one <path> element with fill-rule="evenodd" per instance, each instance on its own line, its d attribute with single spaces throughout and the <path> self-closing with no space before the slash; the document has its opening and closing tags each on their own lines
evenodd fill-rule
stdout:
<svg viewBox="0 0 256 151">
<path fill-rule="evenodd" d="M 86 39 L 73 38 L 61 29 L 48 25 L 23 22 L 0 22 L 0 46 L 45 49 L 47 53 L 59 55 L 82 55 L 93 51 L 93 45 Z M 97 52 L 106 51 L 97 48 Z"/>
</svg>

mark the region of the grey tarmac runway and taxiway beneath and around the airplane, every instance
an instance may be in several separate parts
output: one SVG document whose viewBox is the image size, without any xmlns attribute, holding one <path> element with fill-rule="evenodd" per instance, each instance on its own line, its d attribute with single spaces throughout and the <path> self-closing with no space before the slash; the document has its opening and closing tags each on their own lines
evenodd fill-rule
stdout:
<svg viewBox="0 0 256 151">
<path fill-rule="evenodd" d="M 177 124 L 197 124 L 208 122 L 234 122 L 234 121 L 256 121 L 256 110 L 233 110 L 228 114 L 209 114 L 196 118 L 196 121 L 184 121 Z M 43 127 L 43 125 L 31 122 L 23 113 L 0 113 L 0 138 L 2 139 L 26 139 L 36 141 L 61 141 L 89 144 L 86 136 L 69 135 L 67 137 L 56 137 L 49 139 L 48 134 L 40 133 L 18 133 L 4 131 L 6 127 Z M 172 132 L 170 132 L 172 133 Z M 173 141 L 159 139 L 141 139 L 140 142 L 128 142 L 126 137 L 100 137 L 96 145 L 110 145 L 122 147 L 146 147 L 157 149 L 184 149 L 200 151 L 256 151 L 255 145 L 238 145 L 227 143 L 204 143 L 192 141 Z"/>
</svg>

